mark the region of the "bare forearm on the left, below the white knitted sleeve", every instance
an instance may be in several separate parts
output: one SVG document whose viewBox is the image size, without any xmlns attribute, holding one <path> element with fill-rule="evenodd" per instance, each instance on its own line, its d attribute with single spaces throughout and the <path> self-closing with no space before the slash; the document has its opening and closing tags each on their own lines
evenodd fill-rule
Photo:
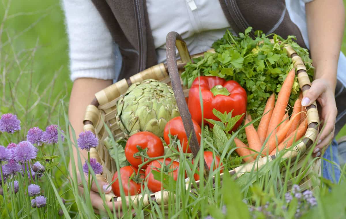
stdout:
<svg viewBox="0 0 346 219">
<path fill-rule="evenodd" d="M 79 133 L 83 132 L 83 119 L 86 106 L 94 99 L 94 94 L 112 84 L 112 80 L 100 80 L 94 78 L 79 78 L 73 82 L 69 104 L 69 120 L 78 138 Z M 71 130 L 70 130 L 71 135 Z M 72 135 L 71 135 L 72 136 Z M 79 150 L 84 163 L 87 158 L 85 150 Z M 73 147 L 73 156 L 77 158 L 77 150 Z M 71 165 L 71 163 L 70 163 Z M 77 166 L 77 159 L 75 159 Z"/>
</svg>

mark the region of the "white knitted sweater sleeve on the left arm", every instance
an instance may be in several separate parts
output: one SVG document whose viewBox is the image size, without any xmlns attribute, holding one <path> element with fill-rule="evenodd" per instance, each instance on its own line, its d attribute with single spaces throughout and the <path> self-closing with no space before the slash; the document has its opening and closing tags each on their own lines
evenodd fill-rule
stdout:
<svg viewBox="0 0 346 219">
<path fill-rule="evenodd" d="M 69 37 L 71 80 L 116 78 L 112 36 L 91 0 L 63 0 L 62 4 Z"/>
</svg>

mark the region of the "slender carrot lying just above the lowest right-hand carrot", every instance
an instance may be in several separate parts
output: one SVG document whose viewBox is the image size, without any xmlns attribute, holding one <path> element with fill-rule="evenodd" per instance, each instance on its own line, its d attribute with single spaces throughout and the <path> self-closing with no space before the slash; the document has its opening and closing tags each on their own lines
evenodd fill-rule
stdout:
<svg viewBox="0 0 346 219">
<path fill-rule="evenodd" d="M 286 137 L 286 133 L 291 128 L 292 123 L 295 117 L 300 117 L 299 115 L 295 115 L 291 120 L 289 120 L 279 131 L 275 134 L 271 134 L 265 147 L 262 150 L 263 155 L 268 155 L 272 150 L 274 150 L 277 144 L 280 144 Z"/>
</svg>

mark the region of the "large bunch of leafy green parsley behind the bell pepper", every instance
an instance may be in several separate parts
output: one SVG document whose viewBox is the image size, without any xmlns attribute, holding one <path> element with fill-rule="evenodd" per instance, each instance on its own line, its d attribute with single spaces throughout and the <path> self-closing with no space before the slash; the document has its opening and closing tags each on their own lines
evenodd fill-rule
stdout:
<svg viewBox="0 0 346 219">
<path fill-rule="evenodd" d="M 249 36 L 251 29 L 247 28 L 245 33 L 239 33 L 238 36 L 227 30 L 224 37 L 213 43 L 215 53 L 206 52 L 204 56 L 193 59 L 193 63 L 187 63 L 181 78 L 188 87 L 191 87 L 195 78 L 202 75 L 237 81 L 247 92 L 247 111 L 253 118 L 257 118 L 262 116 L 267 98 L 272 93 L 279 93 L 283 80 L 293 68 L 291 58 L 283 49 L 284 45 L 291 45 L 302 58 L 310 79 L 313 67 L 308 50 L 294 42 L 294 36 L 283 39 L 276 34 L 266 36 L 262 31 L 256 31 L 253 39 Z M 274 43 L 270 42 L 271 38 Z M 298 94 L 296 77 L 289 102 L 291 106 Z M 254 123 L 255 127 L 257 125 L 258 122 Z"/>
</svg>

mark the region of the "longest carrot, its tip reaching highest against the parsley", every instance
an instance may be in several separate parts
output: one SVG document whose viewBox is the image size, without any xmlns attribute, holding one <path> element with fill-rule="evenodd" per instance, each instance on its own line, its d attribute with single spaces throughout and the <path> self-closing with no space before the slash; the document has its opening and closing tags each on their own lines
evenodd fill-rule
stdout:
<svg viewBox="0 0 346 219">
<path fill-rule="evenodd" d="M 287 74 L 287 77 L 281 86 L 281 90 L 279 94 L 277 95 L 276 104 L 273 109 L 273 114 L 268 125 L 266 137 L 268 137 L 271 133 L 275 134 L 276 126 L 279 125 L 283 115 L 285 114 L 285 109 L 291 95 L 294 78 L 295 78 L 295 71 L 294 69 L 292 69 Z"/>
</svg>

